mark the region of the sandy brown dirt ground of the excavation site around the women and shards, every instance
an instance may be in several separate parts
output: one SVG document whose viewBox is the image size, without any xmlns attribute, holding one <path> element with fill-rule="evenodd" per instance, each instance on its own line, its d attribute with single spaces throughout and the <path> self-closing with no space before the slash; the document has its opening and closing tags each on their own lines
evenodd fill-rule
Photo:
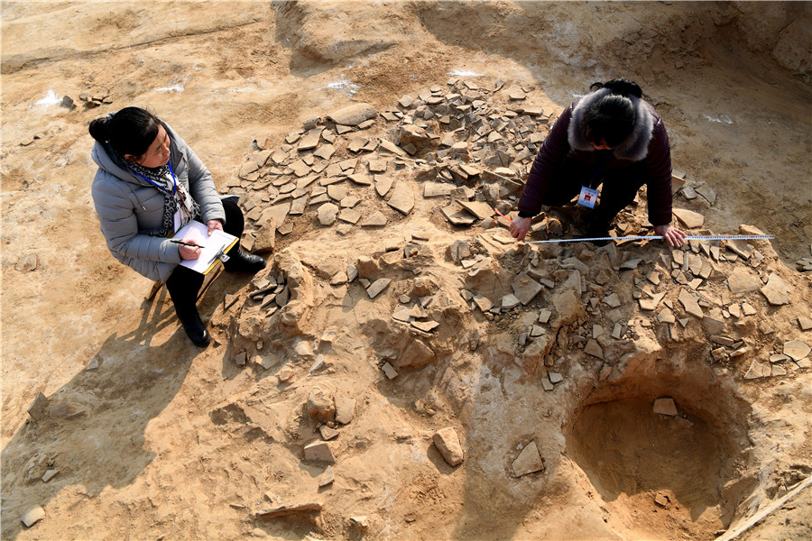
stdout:
<svg viewBox="0 0 812 541">
<path fill-rule="evenodd" d="M 713 539 L 812 474 L 812 362 L 783 355 L 812 345 L 812 288 L 796 262 L 812 255 L 809 3 L 0 10 L 2 538 Z M 499 111 L 500 129 L 515 126 L 502 148 L 521 154 L 591 83 L 614 77 L 637 81 L 668 127 L 689 188 L 675 206 L 704 216 L 690 233 L 774 240 L 685 252 L 503 243 L 495 216 L 449 225 L 441 209 L 458 194 L 423 197 L 438 179 L 515 209 L 514 183 L 444 169 L 438 141 L 467 136 L 473 149 L 473 127 L 429 120 L 438 137 L 412 155 L 350 149 L 354 137 L 403 142 L 404 117 L 432 98 L 474 96 L 474 108 Z M 109 103 L 88 107 L 83 94 Z M 357 103 L 374 107 L 374 123 L 337 134 L 328 116 Z M 284 168 L 300 155 L 309 167 L 352 160 L 343 175 L 384 161 L 373 185 L 335 186 L 362 219 L 380 212 L 386 225 L 323 225 L 312 201 L 338 199 L 316 174 L 268 269 L 224 275 L 201 299 L 213 344 L 198 350 L 165 292 L 144 302 L 151 282 L 115 261 L 98 229 L 88 123 L 126 105 L 151 106 L 218 188 L 260 210 L 301 188 L 266 182 L 274 152 L 285 156 L 280 179 L 296 180 Z M 296 151 L 316 125 L 334 138 L 333 157 Z M 499 144 L 467 165 L 494 170 Z M 252 177 L 245 165 L 262 151 L 271 160 Z M 517 179 L 527 165 L 512 161 Z M 405 212 L 392 200 L 404 190 Z M 617 233 L 648 231 L 644 207 L 623 213 Z M 558 217 L 564 234 L 577 229 Z M 249 220 L 249 234 L 262 225 Z M 348 265 L 358 278 L 337 279 Z M 500 310 L 532 272 L 549 286 Z M 742 277 L 756 286 L 736 289 Z M 363 280 L 379 279 L 392 281 L 371 298 Z M 272 282 L 290 300 L 271 314 Z M 765 283 L 785 298 L 767 298 Z M 691 315 L 686 292 L 704 316 Z M 404 309 L 408 319 L 392 317 Z M 436 328 L 420 330 L 426 319 Z M 49 407 L 39 420 L 27 412 L 37 393 Z M 327 410 L 355 400 L 350 420 L 314 409 L 319 397 Z M 666 397 L 678 415 L 652 412 Z M 339 432 L 323 487 L 328 463 L 304 449 L 327 437 L 319 417 Z M 465 455 L 457 466 L 433 443 L 446 427 Z M 534 448 L 543 469 L 517 476 L 514 460 Z M 263 512 L 304 503 L 320 510 Z M 25 527 L 33 506 L 45 517 Z M 739 538 L 810 537 L 807 490 Z"/>
</svg>

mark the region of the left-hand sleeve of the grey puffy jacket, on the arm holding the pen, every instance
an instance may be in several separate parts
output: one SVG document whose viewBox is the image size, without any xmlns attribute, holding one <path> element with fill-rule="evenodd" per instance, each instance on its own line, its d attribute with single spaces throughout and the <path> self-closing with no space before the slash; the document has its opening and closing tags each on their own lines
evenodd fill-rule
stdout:
<svg viewBox="0 0 812 541">
<path fill-rule="evenodd" d="M 133 194 L 127 189 L 125 180 L 98 170 L 92 195 L 107 249 L 117 259 L 126 264 L 134 260 L 180 263 L 177 244 L 166 238 L 138 233 L 134 200 L 130 197 Z"/>
</svg>

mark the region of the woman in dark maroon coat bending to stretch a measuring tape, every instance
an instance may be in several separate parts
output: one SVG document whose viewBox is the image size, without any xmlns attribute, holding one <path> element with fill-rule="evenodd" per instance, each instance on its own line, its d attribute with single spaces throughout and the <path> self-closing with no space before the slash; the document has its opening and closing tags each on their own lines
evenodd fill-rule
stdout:
<svg viewBox="0 0 812 541">
<path fill-rule="evenodd" d="M 603 184 L 587 234 L 608 236 L 614 217 L 645 184 L 654 231 L 681 246 L 686 235 L 671 225 L 671 151 L 660 115 L 631 81 L 613 79 L 590 89 L 564 110 L 541 145 L 511 234 L 524 239 L 542 205 L 564 206 L 579 193 L 582 203 L 594 205 Z"/>
</svg>

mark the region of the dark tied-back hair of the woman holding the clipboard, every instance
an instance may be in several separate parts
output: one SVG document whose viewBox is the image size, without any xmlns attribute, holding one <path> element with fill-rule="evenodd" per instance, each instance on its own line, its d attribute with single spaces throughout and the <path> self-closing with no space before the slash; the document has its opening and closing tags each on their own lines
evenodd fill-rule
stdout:
<svg viewBox="0 0 812 541">
<path fill-rule="evenodd" d="M 89 132 L 98 142 L 106 142 L 119 156 L 143 156 L 158 136 L 161 121 L 140 107 L 125 107 L 113 115 L 97 118 Z"/>
</svg>

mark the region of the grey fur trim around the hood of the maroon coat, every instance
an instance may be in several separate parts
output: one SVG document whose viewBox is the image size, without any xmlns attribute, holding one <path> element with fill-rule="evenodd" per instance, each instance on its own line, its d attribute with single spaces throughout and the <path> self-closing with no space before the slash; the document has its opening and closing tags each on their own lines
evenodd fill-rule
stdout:
<svg viewBox="0 0 812 541">
<path fill-rule="evenodd" d="M 584 116 L 589 107 L 611 93 L 612 90 L 609 88 L 599 88 L 573 105 L 572 120 L 567 128 L 567 142 L 574 150 L 595 151 L 595 147 L 586 139 L 586 133 L 582 125 Z M 653 113 L 651 105 L 635 96 L 626 97 L 632 100 L 632 104 L 637 109 L 637 123 L 634 124 L 632 134 L 622 144 L 614 147 L 613 155 L 619 160 L 640 161 L 645 159 L 649 153 L 649 143 L 659 119 Z"/>
</svg>

